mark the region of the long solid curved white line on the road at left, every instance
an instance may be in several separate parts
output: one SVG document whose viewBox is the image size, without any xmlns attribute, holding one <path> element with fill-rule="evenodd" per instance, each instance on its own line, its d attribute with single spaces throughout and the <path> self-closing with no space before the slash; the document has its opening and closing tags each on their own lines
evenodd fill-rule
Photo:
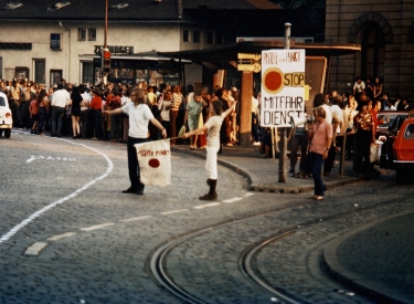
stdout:
<svg viewBox="0 0 414 304">
<path fill-rule="evenodd" d="M 25 226 L 28 226 L 29 223 L 31 223 L 32 221 L 34 221 L 38 217 L 40 217 L 41 214 L 45 213 L 46 211 L 49 211 L 50 209 L 76 197 L 78 193 L 81 193 L 82 191 L 85 191 L 87 188 L 89 188 L 92 185 L 94 185 L 95 182 L 97 182 L 98 180 L 102 180 L 104 178 L 106 178 L 110 171 L 113 170 L 114 168 L 114 164 L 113 161 L 110 161 L 109 157 L 106 156 L 104 153 L 93 148 L 93 147 L 89 147 L 89 146 L 86 146 L 85 144 L 78 144 L 78 143 L 73 143 L 71 140 L 66 140 L 66 139 L 62 139 L 62 138 L 57 138 L 62 141 L 66 141 L 66 143 L 70 143 L 72 145 L 77 145 L 77 146 L 82 146 L 82 147 L 85 147 L 85 148 L 88 148 L 93 151 L 96 151 L 97 154 L 100 154 L 107 161 L 108 164 L 108 168 L 106 169 L 105 174 L 103 174 L 102 176 L 98 176 L 97 178 L 91 180 L 88 184 L 86 184 L 84 187 L 77 189 L 76 191 L 74 191 L 73 193 L 68 195 L 67 197 L 64 197 L 64 198 L 61 198 L 60 200 L 56 200 L 54 202 L 51 202 L 50 205 L 43 207 L 42 209 L 38 210 L 36 212 L 34 212 L 33 214 L 31 214 L 30 217 L 28 217 L 25 220 L 23 220 L 22 222 L 20 222 L 19 224 L 14 226 L 9 232 L 7 232 L 6 234 L 3 234 L 0 239 L 0 244 L 2 244 L 3 242 L 10 240 L 10 238 L 12 238 L 15 233 L 18 233 L 22 228 L 24 228 Z"/>
</svg>

